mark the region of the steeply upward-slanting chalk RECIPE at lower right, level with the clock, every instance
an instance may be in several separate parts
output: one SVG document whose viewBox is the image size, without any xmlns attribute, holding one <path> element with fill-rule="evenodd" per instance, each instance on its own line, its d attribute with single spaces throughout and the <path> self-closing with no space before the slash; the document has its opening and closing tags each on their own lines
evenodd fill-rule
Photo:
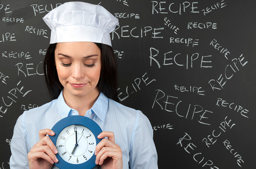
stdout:
<svg viewBox="0 0 256 169">
<path fill-rule="evenodd" d="M 222 133 L 222 131 L 226 132 L 227 128 L 231 129 L 233 126 L 235 126 L 235 123 L 231 122 L 231 119 L 229 121 L 226 120 L 227 116 L 225 117 L 225 120 L 220 123 L 219 128 L 221 129 L 219 132 L 215 132 L 214 129 L 212 131 L 211 135 L 208 135 L 207 138 L 203 138 L 203 142 L 205 142 L 207 147 L 210 147 L 210 145 L 213 145 L 217 141 L 217 137 L 219 137 Z"/>
</svg>

